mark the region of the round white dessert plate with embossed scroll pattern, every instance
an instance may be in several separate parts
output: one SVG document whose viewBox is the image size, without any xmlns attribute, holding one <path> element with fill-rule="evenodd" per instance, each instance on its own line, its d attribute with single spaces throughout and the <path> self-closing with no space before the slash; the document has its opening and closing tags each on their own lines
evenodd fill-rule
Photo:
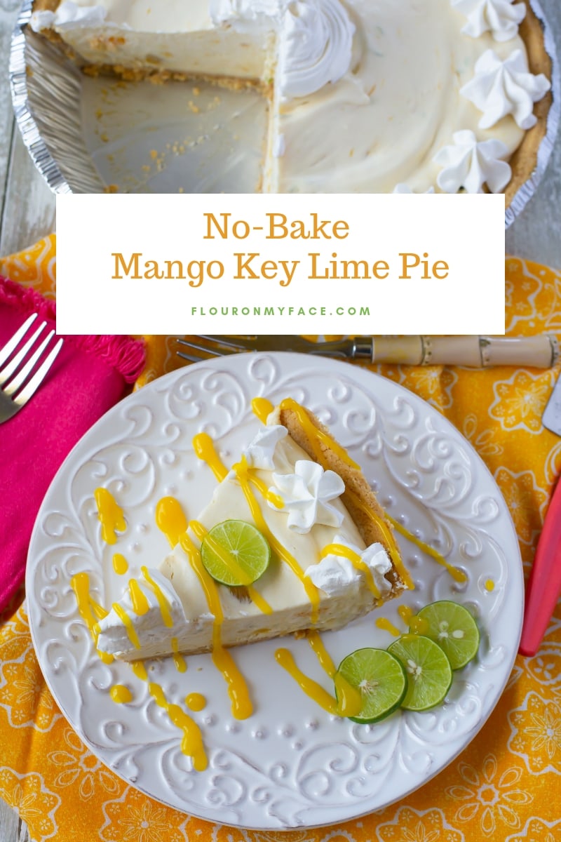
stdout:
<svg viewBox="0 0 561 842">
<path fill-rule="evenodd" d="M 130 664 L 103 663 L 82 621 L 70 580 L 89 574 L 93 596 L 108 606 L 126 576 L 155 566 L 169 547 L 154 512 L 166 495 L 196 516 L 215 486 L 193 453 L 193 435 L 212 435 L 227 464 L 259 422 L 253 397 L 294 397 L 326 423 L 362 466 L 394 519 L 467 574 L 458 584 L 410 541 L 400 538 L 415 590 L 383 610 L 323 635 L 338 663 L 352 650 L 387 647 L 386 617 L 405 631 L 400 605 L 433 600 L 468 605 L 482 632 L 478 657 L 454 674 L 442 706 L 398 711 L 376 725 L 333 717 L 304 695 L 276 663 L 278 640 L 232 650 L 255 711 L 231 716 L 222 676 L 209 655 L 151 662 L 151 679 L 168 701 L 188 693 L 207 700 L 192 713 L 208 768 L 194 771 L 182 733 L 156 705 Z M 93 493 L 108 488 L 127 528 L 114 546 L 100 536 Z M 492 583 L 492 584 L 491 584 Z M 104 764 L 146 794 L 199 818 L 251 829 L 314 827 L 357 818 L 404 797 L 447 765 L 490 715 L 511 673 L 521 629 L 523 580 L 511 517 L 479 456 L 458 430 L 401 386 L 344 362 L 299 354 L 239 354 L 161 377 L 124 399 L 72 450 L 40 509 L 29 550 L 27 602 L 34 646 L 57 704 Z M 283 638 L 299 667 L 331 690 L 305 640 Z M 117 704 L 113 685 L 133 701 Z"/>
</svg>

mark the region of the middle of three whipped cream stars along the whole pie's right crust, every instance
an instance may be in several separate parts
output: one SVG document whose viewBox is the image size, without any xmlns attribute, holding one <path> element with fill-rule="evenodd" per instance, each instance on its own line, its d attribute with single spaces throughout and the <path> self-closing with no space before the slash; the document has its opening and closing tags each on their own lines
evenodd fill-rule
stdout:
<svg viewBox="0 0 561 842">
<path fill-rule="evenodd" d="M 551 84 L 540 73 L 528 71 L 527 58 L 515 50 L 501 61 L 493 50 L 487 50 L 475 65 L 475 76 L 460 93 L 483 111 L 481 129 L 489 129 L 506 115 L 512 115 L 521 129 L 536 125 L 534 103 L 548 93 Z"/>
</svg>

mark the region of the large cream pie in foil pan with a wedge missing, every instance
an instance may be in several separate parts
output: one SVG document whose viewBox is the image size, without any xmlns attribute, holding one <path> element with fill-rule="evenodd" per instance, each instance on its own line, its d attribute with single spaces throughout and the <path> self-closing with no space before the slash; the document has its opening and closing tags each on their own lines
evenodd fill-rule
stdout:
<svg viewBox="0 0 561 842">
<path fill-rule="evenodd" d="M 522 0 L 35 0 L 31 27 L 87 73 L 182 80 L 195 118 L 220 88 L 262 92 L 256 191 L 508 205 L 547 133 L 551 59 Z"/>
</svg>

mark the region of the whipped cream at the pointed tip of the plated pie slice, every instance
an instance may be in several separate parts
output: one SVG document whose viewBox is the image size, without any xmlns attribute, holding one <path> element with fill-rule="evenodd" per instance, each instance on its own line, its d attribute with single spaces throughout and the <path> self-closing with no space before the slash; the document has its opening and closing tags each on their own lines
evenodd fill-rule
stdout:
<svg viewBox="0 0 561 842">
<path fill-rule="evenodd" d="M 156 594 L 146 582 L 146 579 L 139 576 L 137 579 L 138 585 L 149 605 L 146 613 L 135 613 L 129 590 L 125 591 L 123 597 L 119 600 L 119 605 L 124 610 L 124 613 L 129 616 L 141 647 L 146 647 L 153 642 L 157 642 L 161 639 L 162 634 L 171 636 L 173 634 L 173 626 L 179 626 L 187 622 L 182 601 L 173 589 L 169 579 L 154 568 L 148 568 L 148 574 L 167 601 L 172 617 L 172 627 L 168 628 L 165 625 Z M 133 648 L 130 642 L 129 632 L 114 608 L 109 611 L 106 617 L 103 617 L 103 620 L 99 621 L 99 628 L 98 649 L 101 652 L 115 654 L 129 652 Z"/>
</svg>

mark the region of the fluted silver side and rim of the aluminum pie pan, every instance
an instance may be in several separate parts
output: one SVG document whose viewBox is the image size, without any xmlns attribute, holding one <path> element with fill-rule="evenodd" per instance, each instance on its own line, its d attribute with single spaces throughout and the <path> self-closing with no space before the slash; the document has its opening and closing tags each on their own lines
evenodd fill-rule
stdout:
<svg viewBox="0 0 561 842">
<path fill-rule="evenodd" d="M 24 0 L 20 9 L 9 64 L 13 110 L 24 145 L 55 193 L 106 192 L 108 182 L 98 172 L 84 138 L 82 99 L 86 77 L 56 47 L 30 29 L 32 4 L 33 0 Z M 545 49 L 552 64 L 552 104 L 536 166 L 506 208 L 505 227 L 520 215 L 536 192 L 553 151 L 561 112 L 561 77 L 553 32 L 537 0 L 530 0 L 530 6 L 542 25 Z M 164 184 L 153 192 L 177 192 L 177 181 L 172 179 L 172 184 L 172 189 L 168 190 Z M 135 185 L 130 187 L 130 192 L 139 191 L 144 192 Z M 204 183 L 196 184 L 189 191 L 207 192 Z M 241 190 L 234 184 L 233 189 L 224 192 Z"/>
</svg>

